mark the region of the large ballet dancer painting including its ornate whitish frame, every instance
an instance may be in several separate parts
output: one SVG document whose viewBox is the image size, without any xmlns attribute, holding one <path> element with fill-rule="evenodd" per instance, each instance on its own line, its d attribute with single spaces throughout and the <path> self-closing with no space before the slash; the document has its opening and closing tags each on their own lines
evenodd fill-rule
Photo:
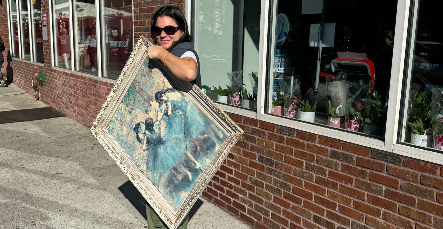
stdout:
<svg viewBox="0 0 443 229">
<path fill-rule="evenodd" d="M 176 229 L 243 131 L 197 86 L 149 60 L 150 45 L 139 39 L 90 132 Z"/>
</svg>

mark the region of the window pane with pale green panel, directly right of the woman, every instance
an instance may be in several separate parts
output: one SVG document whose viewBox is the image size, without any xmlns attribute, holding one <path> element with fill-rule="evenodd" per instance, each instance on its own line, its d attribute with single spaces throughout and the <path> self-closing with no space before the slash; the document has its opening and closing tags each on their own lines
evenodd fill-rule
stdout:
<svg viewBox="0 0 443 229">
<path fill-rule="evenodd" d="M 212 89 L 207 94 L 220 103 L 256 109 L 260 4 L 196 0 L 195 12 L 202 85 Z"/>
</svg>

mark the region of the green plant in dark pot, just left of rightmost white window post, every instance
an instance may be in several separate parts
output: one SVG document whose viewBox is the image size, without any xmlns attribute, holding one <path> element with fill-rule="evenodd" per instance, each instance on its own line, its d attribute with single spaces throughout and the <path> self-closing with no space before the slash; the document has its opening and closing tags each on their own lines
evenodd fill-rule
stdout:
<svg viewBox="0 0 443 229">
<path fill-rule="evenodd" d="M 371 96 L 373 99 L 365 104 L 365 126 L 364 131 L 368 135 L 383 135 L 383 110 L 380 101 L 381 95 L 374 90 Z"/>
</svg>

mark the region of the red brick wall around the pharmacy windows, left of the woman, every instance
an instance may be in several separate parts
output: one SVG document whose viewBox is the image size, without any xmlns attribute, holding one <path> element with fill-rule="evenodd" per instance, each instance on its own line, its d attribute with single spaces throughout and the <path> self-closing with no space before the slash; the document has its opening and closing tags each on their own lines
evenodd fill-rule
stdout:
<svg viewBox="0 0 443 229">
<path fill-rule="evenodd" d="M 0 8 L 0 19 L 3 17 L 6 21 L 6 0 L 3 1 L 4 7 Z M 134 1 L 134 37 L 136 41 L 138 41 L 140 35 L 150 38 L 149 26 L 146 26 L 151 23 L 149 19 L 156 10 L 168 3 L 184 9 L 184 0 Z M 42 11 L 49 12 L 48 0 L 42 0 Z M 48 30 L 51 28 L 50 26 L 51 21 L 48 20 Z M 2 23 L 0 25 L 0 36 L 8 37 L 7 33 L 8 25 Z M 14 84 L 35 95 L 31 88 L 31 79 L 34 75 L 34 68 L 38 68 L 39 71 L 45 73 L 46 84 L 45 86 L 39 86 L 40 100 L 89 127 L 97 116 L 101 105 L 105 102 L 113 83 L 96 77 L 52 69 L 50 39 L 51 36 L 48 31 L 48 41 L 43 41 L 44 66 L 13 60 Z"/>
</svg>

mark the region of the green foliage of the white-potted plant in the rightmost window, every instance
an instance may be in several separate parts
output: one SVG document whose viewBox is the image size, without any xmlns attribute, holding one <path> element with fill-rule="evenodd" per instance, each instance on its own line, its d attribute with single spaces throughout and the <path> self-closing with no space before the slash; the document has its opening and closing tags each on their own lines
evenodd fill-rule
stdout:
<svg viewBox="0 0 443 229">
<path fill-rule="evenodd" d="M 424 135 L 428 128 L 432 127 L 432 93 L 427 91 L 418 92 L 411 90 L 412 109 L 408 114 L 408 126 L 412 133 Z"/>
</svg>

